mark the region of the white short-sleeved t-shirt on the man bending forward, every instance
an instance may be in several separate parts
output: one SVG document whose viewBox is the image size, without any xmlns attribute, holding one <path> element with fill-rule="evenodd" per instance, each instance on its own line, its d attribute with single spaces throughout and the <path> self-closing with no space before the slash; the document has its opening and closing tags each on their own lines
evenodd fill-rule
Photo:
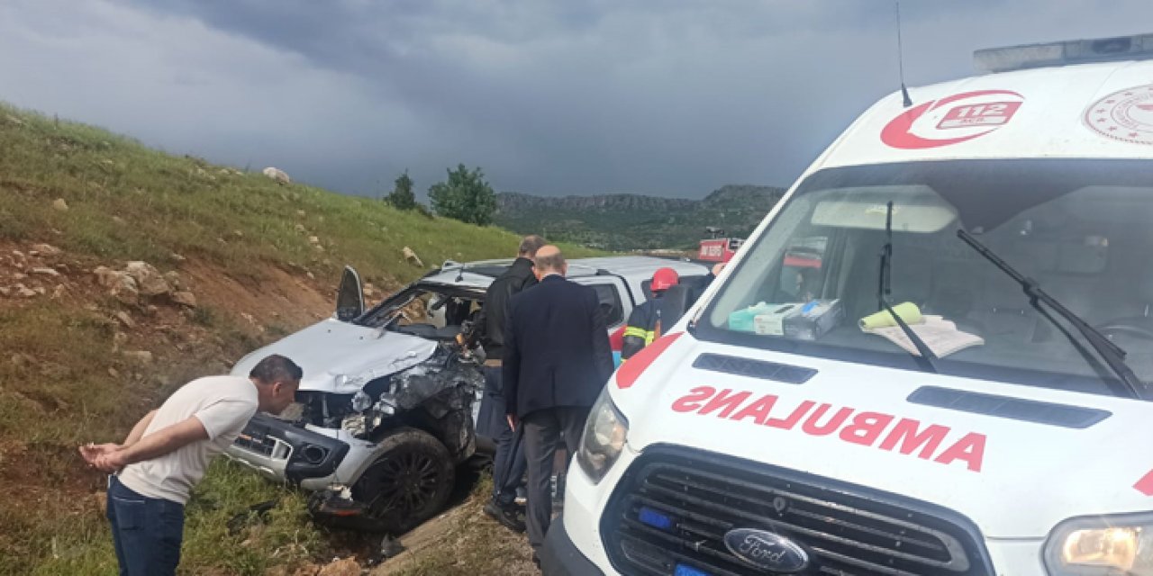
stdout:
<svg viewBox="0 0 1153 576">
<path fill-rule="evenodd" d="M 129 464 L 118 475 L 120 482 L 146 498 L 187 502 L 193 486 L 204 477 L 209 461 L 244 430 L 257 404 L 256 385 L 248 378 L 211 376 L 186 384 L 160 406 L 144 437 L 195 416 L 204 425 L 209 439 Z"/>
</svg>

